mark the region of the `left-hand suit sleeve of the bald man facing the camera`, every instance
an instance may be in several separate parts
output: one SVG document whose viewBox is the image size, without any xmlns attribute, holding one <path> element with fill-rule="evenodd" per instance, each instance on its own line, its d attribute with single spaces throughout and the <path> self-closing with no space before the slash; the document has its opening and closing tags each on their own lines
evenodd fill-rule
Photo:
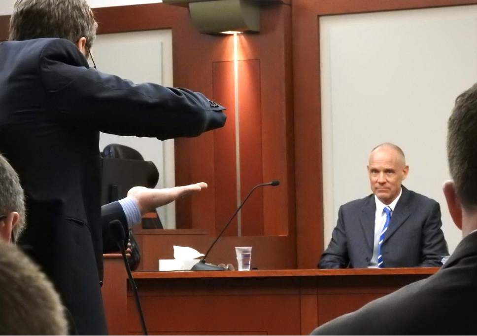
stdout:
<svg viewBox="0 0 477 336">
<path fill-rule="evenodd" d="M 338 223 L 333 230 L 330 244 L 321 255 L 318 268 L 345 268 L 349 263 L 346 231 L 342 207 L 338 211 Z"/>
</svg>

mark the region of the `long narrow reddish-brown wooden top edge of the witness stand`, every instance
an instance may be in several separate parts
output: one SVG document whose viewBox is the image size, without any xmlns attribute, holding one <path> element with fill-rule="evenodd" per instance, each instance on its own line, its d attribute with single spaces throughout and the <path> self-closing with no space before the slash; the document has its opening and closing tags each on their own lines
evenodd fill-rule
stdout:
<svg viewBox="0 0 477 336">
<path fill-rule="evenodd" d="M 253 270 L 253 271 L 173 271 L 173 272 L 134 272 L 135 279 L 162 279 L 162 278 L 256 278 L 256 277 L 322 277 L 322 276 L 355 276 L 355 275 L 412 275 L 434 274 L 439 267 L 417 268 L 348 268 L 348 269 L 280 269 L 280 270 Z"/>
</svg>

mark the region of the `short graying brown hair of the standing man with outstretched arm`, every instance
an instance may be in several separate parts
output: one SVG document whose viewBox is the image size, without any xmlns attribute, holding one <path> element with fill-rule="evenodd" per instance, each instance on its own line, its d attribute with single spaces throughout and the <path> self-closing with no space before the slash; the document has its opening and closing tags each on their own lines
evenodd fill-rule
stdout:
<svg viewBox="0 0 477 336">
<path fill-rule="evenodd" d="M 16 0 L 10 17 L 9 40 L 86 37 L 91 48 L 98 24 L 86 0 Z"/>
</svg>

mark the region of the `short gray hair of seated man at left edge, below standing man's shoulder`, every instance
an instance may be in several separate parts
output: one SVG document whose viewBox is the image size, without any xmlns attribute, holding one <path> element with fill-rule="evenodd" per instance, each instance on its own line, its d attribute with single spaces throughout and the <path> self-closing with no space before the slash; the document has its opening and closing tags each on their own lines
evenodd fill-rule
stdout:
<svg viewBox="0 0 477 336">
<path fill-rule="evenodd" d="M 8 215 L 13 211 L 20 215 L 18 223 L 13 226 L 15 238 L 18 238 L 26 223 L 25 196 L 18 174 L 0 154 L 0 214 Z"/>
</svg>

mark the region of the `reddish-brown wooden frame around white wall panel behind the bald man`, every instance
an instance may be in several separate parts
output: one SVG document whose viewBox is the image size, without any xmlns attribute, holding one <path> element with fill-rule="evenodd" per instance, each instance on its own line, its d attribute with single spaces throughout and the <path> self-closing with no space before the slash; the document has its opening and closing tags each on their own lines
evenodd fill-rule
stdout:
<svg viewBox="0 0 477 336">
<path fill-rule="evenodd" d="M 315 266 L 324 250 L 319 17 L 476 3 L 477 0 L 292 2 L 298 268 Z"/>
</svg>

